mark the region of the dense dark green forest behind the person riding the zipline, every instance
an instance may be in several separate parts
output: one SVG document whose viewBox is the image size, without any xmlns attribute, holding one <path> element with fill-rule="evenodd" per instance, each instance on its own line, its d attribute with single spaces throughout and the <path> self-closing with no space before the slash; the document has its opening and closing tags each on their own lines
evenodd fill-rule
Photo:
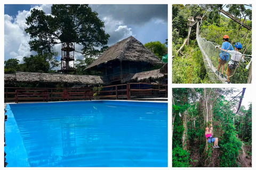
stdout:
<svg viewBox="0 0 256 170">
<path fill-rule="evenodd" d="M 252 167 L 252 104 L 243 104 L 246 92 L 172 89 L 172 167 Z M 210 126 L 219 148 L 206 140 Z"/>
</svg>

